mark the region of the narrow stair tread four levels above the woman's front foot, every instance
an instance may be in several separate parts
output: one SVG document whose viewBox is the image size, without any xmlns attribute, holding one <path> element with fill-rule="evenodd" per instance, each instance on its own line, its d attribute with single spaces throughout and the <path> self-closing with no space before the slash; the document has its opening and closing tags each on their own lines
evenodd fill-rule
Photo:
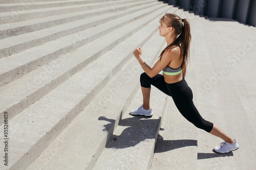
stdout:
<svg viewBox="0 0 256 170">
<path fill-rule="evenodd" d="M 157 6 L 157 7 L 161 7 L 161 6 Z M 151 11 L 152 9 L 156 9 L 156 8 L 152 7 L 149 10 L 143 10 L 143 11 L 144 11 L 144 13 L 146 13 L 147 11 Z M 110 28 L 113 28 L 114 26 L 117 27 L 117 26 L 119 26 L 117 23 L 122 23 L 122 22 L 126 23 L 127 21 L 129 21 L 129 19 L 136 17 L 137 16 L 136 14 L 143 15 L 144 14 L 143 11 L 132 13 L 127 16 L 122 16 L 121 18 L 117 18 L 117 19 L 111 20 L 109 22 L 102 23 L 101 25 L 98 25 L 96 27 L 88 28 L 87 30 L 78 32 L 76 34 L 68 35 L 68 36 L 56 39 L 54 41 L 47 42 L 40 46 L 30 48 L 26 51 L 11 55 L 9 57 L 2 58 L 2 59 L 0 59 L 0 61 L 1 61 L 0 66 L 1 66 L 1 68 L 3 68 L 0 70 L 1 74 L 4 74 L 5 72 L 10 71 L 16 67 L 24 66 L 24 65 L 26 65 L 30 62 L 33 62 L 34 60 L 39 59 L 41 57 L 47 56 L 55 51 L 58 51 L 59 49 L 62 49 L 65 46 L 69 46 L 69 45 L 73 44 L 75 41 L 82 40 L 82 37 L 83 38 L 93 37 L 93 36 L 97 35 L 98 33 L 102 33 L 102 30 L 103 31 L 108 30 Z M 124 12 L 121 12 L 121 13 L 124 13 Z M 121 13 L 119 13 L 119 15 L 121 15 Z M 92 22 L 93 19 L 91 18 L 91 19 L 89 19 L 89 21 Z M 77 37 L 78 36 L 77 34 L 79 34 L 79 37 Z M 65 42 L 65 43 L 63 43 L 63 42 Z M 38 55 L 38 54 L 40 54 L 40 55 Z M 15 61 L 18 61 L 18 62 L 15 62 Z M 10 67 L 10 65 L 6 65 L 6 63 L 11 63 L 13 66 Z M 40 65 L 44 65 L 44 63 L 40 62 Z M 24 72 L 26 72 L 26 71 L 19 72 L 19 74 L 22 74 Z"/>
</svg>

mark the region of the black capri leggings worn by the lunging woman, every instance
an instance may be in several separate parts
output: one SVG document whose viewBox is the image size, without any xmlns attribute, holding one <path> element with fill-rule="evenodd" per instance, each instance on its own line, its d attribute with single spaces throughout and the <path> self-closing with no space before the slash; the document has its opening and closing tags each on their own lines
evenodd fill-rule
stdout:
<svg viewBox="0 0 256 170">
<path fill-rule="evenodd" d="M 172 96 L 174 103 L 180 113 L 196 127 L 210 132 L 214 124 L 203 119 L 193 103 L 193 93 L 188 87 L 185 79 L 180 82 L 168 84 L 164 81 L 163 75 L 156 75 L 153 78 L 147 76 L 145 72 L 140 75 L 140 84 L 142 87 L 149 88 L 155 86 L 165 94 Z"/>
</svg>

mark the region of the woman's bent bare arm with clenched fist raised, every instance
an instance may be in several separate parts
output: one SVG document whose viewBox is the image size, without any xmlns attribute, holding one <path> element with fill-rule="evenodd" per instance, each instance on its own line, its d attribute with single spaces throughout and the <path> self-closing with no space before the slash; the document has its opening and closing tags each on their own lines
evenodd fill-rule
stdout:
<svg viewBox="0 0 256 170">
<path fill-rule="evenodd" d="M 164 67 L 166 67 L 166 65 L 168 65 L 172 61 L 173 56 L 177 55 L 177 52 L 174 50 L 165 52 L 162 55 L 161 59 L 156 62 L 156 64 L 153 66 L 153 68 L 151 68 L 141 58 L 141 53 L 142 53 L 141 48 L 138 47 L 138 48 L 136 48 L 136 50 L 134 51 L 133 54 L 136 57 L 136 59 L 138 60 L 138 62 L 140 63 L 142 69 L 151 78 L 156 76 Z"/>
</svg>

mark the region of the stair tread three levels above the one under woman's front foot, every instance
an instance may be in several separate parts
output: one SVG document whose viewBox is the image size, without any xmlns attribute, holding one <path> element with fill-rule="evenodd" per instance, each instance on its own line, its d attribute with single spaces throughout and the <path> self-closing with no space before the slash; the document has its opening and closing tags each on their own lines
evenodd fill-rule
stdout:
<svg viewBox="0 0 256 170">
<path fill-rule="evenodd" d="M 157 13 L 157 12 L 154 12 L 154 13 Z M 152 13 L 153 14 L 152 16 L 154 16 L 154 13 Z M 100 39 L 92 41 L 91 43 L 78 48 L 76 51 L 74 51 L 70 54 L 67 54 L 65 56 L 62 56 L 62 57 L 58 58 L 57 60 L 52 61 L 48 65 L 42 66 L 41 68 L 30 72 L 29 74 L 23 76 L 22 78 L 19 78 L 9 84 L 6 84 L 5 86 L 0 87 L 1 91 L 3 91 L 3 93 L 1 93 L 1 100 L 3 100 L 3 102 L 2 102 L 3 105 L 0 106 L 1 111 L 5 110 L 6 108 L 9 108 L 13 105 L 17 105 L 17 101 L 18 102 L 21 101 L 23 103 L 24 102 L 26 103 L 28 101 L 32 104 L 33 102 L 36 101 L 35 99 L 33 99 L 35 96 L 32 97 L 33 95 L 35 95 L 35 94 L 33 94 L 34 92 L 36 92 L 37 90 L 39 90 L 42 87 L 44 87 L 46 89 L 46 91 L 43 93 L 46 93 L 47 91 L 49 92 L 48 88 L 50 88 L 49 85 L 51 85 L 53 80 L 59 81 L 59 78 L 60 78 L 60 80 L 69 78 L 70 76 L 75 74 L 76 69 L 80 63 L 83 62 L 86 65 L 86 63 L 89 63 L 90 61 L 95 60 L 96 59 L 95 57 L 97 57 L 97 55 L 100 55 L 100 53 L 102 53 L 102 51 L 105 51 L 104 49 L 108 45 L 115 43 L 116 41 L 118 42 L 118 40 L 120 39 L 119 35 L 127 34 L 126 36 L 128 36 L 129 31 L 127 31 L 127 30 L 130 30 L 130 32 L 131 32 L 131 30 L 141 28 L 148 20 L 151 20 L 152 16 L 146 16 L 146 17 L 140 18 L 138 20 L 135 20 L 134 22 L 127 25 L 126 29 L 120 28 L 120 29 L 116 30 L 116 32 L 112 32 L 107 36 L 103 36 Z M 128 17 L 125 17 L 125 18 L 127 20 L 129 20 Z M 118 22 L 121 23 L 121 21 L 124 21 L 124 19 L 120 18 Z M 115 21 L 113 21 L 113 22 L 115 22 Z M 112 22 L 110 22 L 110 23 L 108 23 L 108 26 L 113 27 L 115 25 L 113 25 Z M 99 31 L 102 31 L 103 29 L 106 29 L 106 25 L 100 26 Z M 93 31 L 97 33 L 96 28 L 93 29 Z M 84 32 L 86 32 L 86 33 L 84 33 Z M 82 38 L 82 36 L 90 36 L 90 34 L 94 34 L 90 30 L 84 31 L 84 32 L 81 32 L 79 34 L 79 38 Z M 109 37 L 112 37 L 112 38 L 109 38 Z M 59 42 L 61 42 L 61 41 L 59 41 Z M 67 41 L 67 42 L 69 42 L 69 41 Z M 108 42 L 108 43 L 106 43 L 102 46 L 102 42 Z M 56 44 L 59 44 L 59 43 L 56 43 Z M 60 45 L 62 45 L 62 44 L 60 44 Z M 50 46 L 52 46 L 52 45 L 49 45 L 49 47 Z M 48 49 L 50 49 L 49 47 L 48 47 Z M 55 47 L 56 47 L 56 45 L 55 45 Z M 95 49 L 96 52 L 92 51 L 93 48 Z M 108 48 L 106 48 L 106 49 L 108 49 Z M 46 50 L 46 52 L 47 52 L 47 50 Z M 84 56 L 83 55 L 84 53 L 87 53 L 87 56 Z M 73 58 L 70 57 L 71 55 L 77 56 L 76 60 L 73 60 Z M 90 57 L 94 57 L 94 58 L 90 58 Z M 49 69 L 50 70 L 54 69 L 54 71 L 48 71 Z M 40 83 L 39 78 L 40 78 L 41 72 L 43 74 L 46 72 L 47 76 L 45 76 L 46 78 L 43 77 L 41 79 L 41 83 Z M 66 78 L 61 76 L 63 74 L 66 75 Z M 38 75 L 38 76 L 35 77 L 35 75 Z M 37 82 L 38 79 L 39 79 L 39 82 Z M 61 81 L 60 81 L 60 83 L 61 83 Z M 12 89 L 17 89 L 17 91 L 13 91 Z M 40 92 L 40 93 L 42 93 L 42 92 Z M 21 95 L 18 96 L 18 94 L 21 94 Z M 42 94 L 37 94 L 37 95 L 41 96 Z M 12 96 L 16 96 L 16 98 L 12 98 Z M 38 96 L 36 96 L 36 98 L 38 99 Z M 31 99 L 32 99 L 32 101 L 30 101 Z M 24 101 L 24 100 L 26 100 L 26 101 Z M 17 105 L 16 109 L 18 109 L 18 107 L 20 107 L 20 106 Z"/>
</svg>

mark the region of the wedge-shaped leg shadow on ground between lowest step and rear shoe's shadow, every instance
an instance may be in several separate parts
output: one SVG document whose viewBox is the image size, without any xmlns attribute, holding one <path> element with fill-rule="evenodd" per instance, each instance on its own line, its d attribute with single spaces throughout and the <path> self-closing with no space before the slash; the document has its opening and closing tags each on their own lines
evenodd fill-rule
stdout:
<svg viewBox="0 0 256 170">
<path fill-rule="evenodd" d="M 161 135 L 158 136 L 155 153 L 172 151 L 183 147 L 197 147 L 197 140 L 181 139 L 181 140 L 163 140 Z"/>
</svg>

